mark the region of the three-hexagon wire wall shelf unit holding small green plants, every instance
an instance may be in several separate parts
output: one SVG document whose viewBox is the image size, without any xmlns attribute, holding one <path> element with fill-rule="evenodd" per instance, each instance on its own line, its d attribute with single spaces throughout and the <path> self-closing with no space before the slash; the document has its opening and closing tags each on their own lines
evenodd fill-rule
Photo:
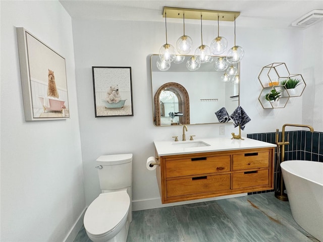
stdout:
<svg viewBox="0 0 323 242">
<path fill-rule="evenodd" d="M 290 97 L 301 96 L 306 87 L 302 75 L 290 74 L 285 63 L 272 63 L 264 66 L 258 80 L 262 86 L 258 100 L 263 108 L 283 108 Z M 295 88 L 292 88 L 293 86 Z M 278 98 L 275 101 L 267 100 L 265 96 L 273 90 L 279 92 Z"/>
</svg>

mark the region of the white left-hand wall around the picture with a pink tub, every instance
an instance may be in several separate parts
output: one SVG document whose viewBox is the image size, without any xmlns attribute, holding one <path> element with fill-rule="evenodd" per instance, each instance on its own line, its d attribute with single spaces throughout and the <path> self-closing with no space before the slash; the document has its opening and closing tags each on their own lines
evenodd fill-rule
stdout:
<svg viewBox="0 0 323 242">
<path fill-rule="evenodd" d="M 85 208 L 71 17 L 1 1 L 1 241 L 63 241 Z M 25 122 L 16 27 L 66 58 L 70 118 Z"/>
</svg>

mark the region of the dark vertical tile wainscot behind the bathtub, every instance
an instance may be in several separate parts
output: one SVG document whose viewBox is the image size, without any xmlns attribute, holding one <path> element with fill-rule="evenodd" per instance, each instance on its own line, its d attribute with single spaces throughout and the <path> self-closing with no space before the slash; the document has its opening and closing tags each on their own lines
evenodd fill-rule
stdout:
<svg viewBox="0 0 323 242">
<path fill-rule="evenodd" d="M 279 142 L 281 139 L 282 132 L 279 133 Z M 272 144 L 276 144 L 276 133 L 259 133 L 259 134 L 248 134 L 247 138 L 260 140 Z M 312 160 L 323 162 L 323 132 L 310 131 L 288 131 L 285 132 L 285 141 L 289 140 L 289 145 L 285 146 L 285 159 L 284 160 Z M 275 149 L 275 165 L 274 165 L 274 181 L 276 187 L 277 174 L 279 166 L 277 166 L 278 154 L 277 148 Z M 280 151 L 279 151 L 280 152 Z M 253 192 L 248 194 L 266 193 L 273 192 L 262 191 Z"/>
</svg>

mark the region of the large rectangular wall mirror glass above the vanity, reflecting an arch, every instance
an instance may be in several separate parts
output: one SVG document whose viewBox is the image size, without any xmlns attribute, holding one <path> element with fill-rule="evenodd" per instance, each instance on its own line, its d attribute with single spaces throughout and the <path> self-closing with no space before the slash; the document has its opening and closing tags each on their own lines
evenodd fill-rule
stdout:
<svg viewBox="0 0 323 242">
<path fill-rule="evenodd" d="M 228 71 L 216 71 L 211 63 L 203 63 L 197 71 L 186 68 L 185 56 L 181 64 L 171 64 L 168 71 L 159 71 L 151 56 L 151 82 L 153 122 L 155 126 L 176 124 L 219 123 L 214 112 L 225 107 L 229 114 L 239 105 L 239 83 L 223 82 L 221 77 Z M 230 65 L 231 66 L 231 65 Z M 239 75 L 239 65 L 234 64 Z"/>
</svg>

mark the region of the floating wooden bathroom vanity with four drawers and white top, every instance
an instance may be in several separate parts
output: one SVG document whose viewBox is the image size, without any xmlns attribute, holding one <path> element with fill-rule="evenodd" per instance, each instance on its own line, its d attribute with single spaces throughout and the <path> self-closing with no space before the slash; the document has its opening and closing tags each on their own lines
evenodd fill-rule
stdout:
<svg viewBox="0 0 323 242">
<path fill-rule="evenodd" d="M 155 141 L 161 202 L 273 189 L 276 145 L 244 139 Z"/>
</svg>

